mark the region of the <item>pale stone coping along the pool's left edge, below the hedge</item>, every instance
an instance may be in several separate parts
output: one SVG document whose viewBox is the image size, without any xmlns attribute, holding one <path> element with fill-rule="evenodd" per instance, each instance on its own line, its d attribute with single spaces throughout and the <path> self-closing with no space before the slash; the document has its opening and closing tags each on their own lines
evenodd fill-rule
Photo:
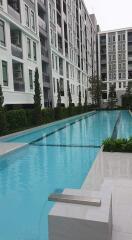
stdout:
<svg viewBox="0 0 132 240">
<path fill-rule="evenodd" d="M 78 118 L 85 117 L 85 116 L 88 116 L 88 115 L 91 116 L 91 114 L 96 114 L 96 112 L 97 111 L 94 110 L 94 111 L 86 112 L 86 113 L 83 113 L 83 114 L 78 114 L 78 115 L 75 115 L 75 116 L 72 116 L 72 117 L 69 117 L 69 118 L 65 118 L 65 119 L 62 119 L 62 120 L 54 121 L 52 123 L 43 124 L 43 125 L 40 125 L 40 126 L 37 126 L 37 127 L 26 129 L 24 131 L 19 131 L 19 132 L 15 132 L 15 133 L 12 133 L 12 134 L 8 134 L 6 136 L 2 136 L 2 137 L 0 137 L 0 148 L 3 145 L 4 149 L 2 149 L 2 148 L 0 149 L 0 157 L 4 156 L 6 154 L 9 154 L 10 152 L 16 151 L 16 150 L 18 150 L 20 148 L 23 148 L 23 147 L 26 147 L 27 145 L 29 145 L 29 143 L 20 143 L 19 141 L 18 142 L 6 142 L 6 139 L 8 140 L 11 137 L 16 137 L 17 138 L 17 137 L 23 136 L 25 134 L 30 134 L 31 132 L 35 133 L 38 130 L 46 129 L 46 128 L 52 127 L 54 125 L 58 126 L 60 123 L 67 123 L 68 120 L 72 121 L 72 120 L 76 120 Z M 5 140 L 5 141 L 2 141 L 2 140 Z"/>
</svg>

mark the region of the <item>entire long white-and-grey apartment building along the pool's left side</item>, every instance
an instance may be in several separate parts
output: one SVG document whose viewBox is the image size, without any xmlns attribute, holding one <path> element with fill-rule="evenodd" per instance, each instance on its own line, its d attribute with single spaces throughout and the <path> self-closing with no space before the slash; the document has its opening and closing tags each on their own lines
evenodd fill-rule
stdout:
<svg viewBox="0 0 132 240">
<path fill-rule="evenodd" d="M 4 104 L 33 104 L 39 69 L 42 106 L 88 102 L 89 77 L 97 74 L 97 23 L 83 0 L 0 0 L 0 84 Z"/>
</svg>

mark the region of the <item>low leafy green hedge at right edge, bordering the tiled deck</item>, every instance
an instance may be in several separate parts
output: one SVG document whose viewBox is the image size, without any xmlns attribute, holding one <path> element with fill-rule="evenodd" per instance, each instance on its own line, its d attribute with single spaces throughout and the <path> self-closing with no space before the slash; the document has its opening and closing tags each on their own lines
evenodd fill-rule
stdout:
<svg viewBox="0 0 132 240">
<path fill-rule="evenodd" d="M 128 152 L 132 153 L 132 137 L 129 139 L 108 138 L 103 142 L 104 152 Z"/>
</svg>

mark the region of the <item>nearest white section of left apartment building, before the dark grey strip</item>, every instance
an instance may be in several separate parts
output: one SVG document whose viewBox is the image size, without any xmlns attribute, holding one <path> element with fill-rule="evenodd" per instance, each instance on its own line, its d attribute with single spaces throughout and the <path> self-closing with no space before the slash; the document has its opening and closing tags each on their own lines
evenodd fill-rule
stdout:
<svg viewBox="0 0 132 240">
<path fill-rule="evenodd" d="M 37 13 L 37 0 L 0 0 L 0 84 L 9 108 L 33 104 L 36 67 L 43 89 Z"/>
</svg>

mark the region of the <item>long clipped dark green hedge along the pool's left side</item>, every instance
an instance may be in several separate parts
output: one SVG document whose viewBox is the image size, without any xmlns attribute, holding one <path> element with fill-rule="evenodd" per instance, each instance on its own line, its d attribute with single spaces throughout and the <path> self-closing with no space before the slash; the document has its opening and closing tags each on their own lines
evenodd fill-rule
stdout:
<svg viewBox="0 0 132 240">
<path fill-rule="evenodd" d="M 68 118 L 77 114 L 93 110 L 93 106 L 79 106 L 70 108 L 48 108 L 42 110 L 42 124 Z M 40 125 L 40 124 L 38 124 Z M 36 126 L 33 109 L 19 109 L 0 112 L 0 135 L 12 133 Z"/>
</svg>

